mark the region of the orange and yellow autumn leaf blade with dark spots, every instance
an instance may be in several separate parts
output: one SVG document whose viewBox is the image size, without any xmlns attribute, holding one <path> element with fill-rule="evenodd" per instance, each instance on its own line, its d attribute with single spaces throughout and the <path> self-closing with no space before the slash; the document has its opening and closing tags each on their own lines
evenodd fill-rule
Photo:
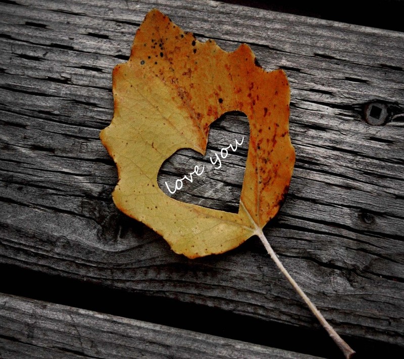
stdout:
<svg viewBox="0 0 404 359">
<path fill-rule="evenodd" d="M 237 247 L 273 218 L 289 188 L 294 149 L 289 85 L 265 71 L 246 44 L 232 53 L 199 42 L 158 10 L 136 32 L 130 59 L 113 71 L 115 112 L 100 137 L 118 167 L 113 198 L 128 216 L 189 258 Z M 180 148 L 204 155 L 209 125 L 229 111 L 249 119 L 238 214 L 170 198 L 159 188 L 163 162 Z"/>
</svg>

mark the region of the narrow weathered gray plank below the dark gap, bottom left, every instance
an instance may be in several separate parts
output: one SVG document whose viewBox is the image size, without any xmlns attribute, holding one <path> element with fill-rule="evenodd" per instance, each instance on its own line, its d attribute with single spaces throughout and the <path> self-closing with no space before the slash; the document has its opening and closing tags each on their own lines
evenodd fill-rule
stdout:
<svg viewBox="0 0 404 359">
<path fill-rule="evenodd" d="M 0 294 L 0 356 L 319 358 L 6 294 Z"/>
</svg>

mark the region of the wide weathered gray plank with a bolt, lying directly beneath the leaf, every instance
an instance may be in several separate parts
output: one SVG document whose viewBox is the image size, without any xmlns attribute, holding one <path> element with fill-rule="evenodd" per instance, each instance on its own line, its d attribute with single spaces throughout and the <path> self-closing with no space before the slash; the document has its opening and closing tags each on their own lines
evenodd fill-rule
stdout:
<svg viewBox="0 0 404 359">
<path fill-rule="evenodd" d="M 0 4 L 0 262 L 317 326 L 257 238 L 191 261 L 115 208 L 116 168 L 98 134 L 113 115 L 112 69 L 128 58 L 153 7 L 200 40 L 213 38 L 226 50 L 247 42 L 265 69 L 286 71 L 296 165 L 284 207 L 265 233 L 340 334 L 404 346 L 399 32 L 213 1 Z M 373 101 L 388 109 L 384 126 L 363 120 Z M 232 130 L 218 126 L 217 138 Z M 223 198 L 195 198 L 195 188 L 181 195 L 234 209 L 242 155 L 231 157 L 231 176 L 218 172 L 217 187 L 197 187 L 217 188 Z M 182 176 L 194 161 L 188 152 L 170 160 L 161 180 Z"/>
</svg>

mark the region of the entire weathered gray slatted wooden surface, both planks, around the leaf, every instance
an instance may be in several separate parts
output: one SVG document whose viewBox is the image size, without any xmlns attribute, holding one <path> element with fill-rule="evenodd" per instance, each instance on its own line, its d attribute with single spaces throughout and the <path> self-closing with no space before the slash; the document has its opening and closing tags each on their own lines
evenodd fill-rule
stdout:
<svg viewBox="0 0 404 359">
<path fill-rule="evenodd" d="M 284 69 L 296 164 L 265 234 L 356 357 L 403 357 L 404 33 L 196 0 L 0 4 L 0 357 L 342 357 L 258 238 L 188 260 L 115 207 L 99 131 L 152 8 Z M 245 156 L 180 199 L 236 211 Z"/>
</svg>

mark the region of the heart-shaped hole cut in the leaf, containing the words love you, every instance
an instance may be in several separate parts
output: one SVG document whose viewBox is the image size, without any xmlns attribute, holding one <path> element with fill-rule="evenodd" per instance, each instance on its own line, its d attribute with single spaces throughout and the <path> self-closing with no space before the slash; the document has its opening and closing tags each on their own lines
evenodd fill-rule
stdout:
<svg viewBox="0 0 404 359">
<path fill-rule="evenodd" d="M 238 213 L 248 141 L 247 116 L 227 112 L 211 124 L 205 156 L 189 148 L 176 151 L 160 168 L 159 187 L 183 202 Z"/>
</svg>

